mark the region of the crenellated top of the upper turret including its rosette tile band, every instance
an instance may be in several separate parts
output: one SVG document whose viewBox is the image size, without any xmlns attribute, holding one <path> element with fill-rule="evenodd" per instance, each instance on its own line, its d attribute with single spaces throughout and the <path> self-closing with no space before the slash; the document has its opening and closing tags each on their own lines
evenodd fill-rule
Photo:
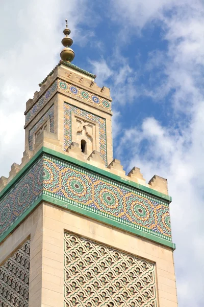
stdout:
<svg viewBox="0 0 204 307">
<path fill-rule="evenodd" d="M 35 92 L 33 99 L 27 101 L 24 113 L 25 127 L 57 92 L 78 97 L 84 103 L 92 104 L 96 108 L 111 113 L 112 99 L 108 87 L 99 87 L 93 78 L 61 64 L 54 69 L 52 75 L 47 77 L 40 91 Z"/>
</svg>

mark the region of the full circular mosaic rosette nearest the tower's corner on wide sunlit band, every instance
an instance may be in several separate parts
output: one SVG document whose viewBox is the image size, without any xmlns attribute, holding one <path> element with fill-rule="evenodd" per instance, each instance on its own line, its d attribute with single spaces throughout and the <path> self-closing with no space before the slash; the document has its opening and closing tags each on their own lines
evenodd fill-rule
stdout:
<svg viewBox="0 0 204 307">
<path fill-rule="evenodd" d="M 86 174 L 66 169 L 62 176 L 62 186 L 66 198 L 84 205 L 92 203 L 91 183 Z"/>
</svg>

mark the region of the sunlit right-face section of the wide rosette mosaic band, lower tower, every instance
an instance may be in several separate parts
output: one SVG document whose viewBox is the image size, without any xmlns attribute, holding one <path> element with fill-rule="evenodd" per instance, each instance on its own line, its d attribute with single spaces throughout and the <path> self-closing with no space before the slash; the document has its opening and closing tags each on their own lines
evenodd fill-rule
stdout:
<svg viewBox="0 0 204 307">
<path fill-rule="evenodd" d="M 45 194 L 171 241 L 167 202 L 83 168 L 44 157 Z"/>
</svg>

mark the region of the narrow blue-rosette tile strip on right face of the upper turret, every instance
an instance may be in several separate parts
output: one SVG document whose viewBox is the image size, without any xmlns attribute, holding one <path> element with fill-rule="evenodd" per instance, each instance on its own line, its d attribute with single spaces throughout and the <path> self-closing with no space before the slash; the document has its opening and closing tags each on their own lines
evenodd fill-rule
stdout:
<svg viewBox="0 0 204 307">
<path fill-rule="evenodd" d="M 105 100 L 104 98 L 95 95 L 91 92 L 85 91 L 81 89 L 79 86 L 73 85 L 71 83 L 62 81 L 58 79 L 58 89 L 73 95 L 74 97 L 78 97 L 89 101 L 90 103 L 97 104 L 105 109 L 111 111 L 111 101 Z"/>
</svg>

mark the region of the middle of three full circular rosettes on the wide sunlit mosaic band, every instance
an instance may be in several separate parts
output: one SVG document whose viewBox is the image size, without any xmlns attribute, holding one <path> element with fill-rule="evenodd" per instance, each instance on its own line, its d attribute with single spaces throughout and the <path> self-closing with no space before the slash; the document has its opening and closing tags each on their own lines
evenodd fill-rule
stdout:
<svg viewBox="0 0 204 307">
<path fill-rule="evenodd" d="M 119 188 L 98 180 L 94 184 L 95 206 L 106 213 L 120 217 L 123 211 L 123 194 Z"/>
</svg>

